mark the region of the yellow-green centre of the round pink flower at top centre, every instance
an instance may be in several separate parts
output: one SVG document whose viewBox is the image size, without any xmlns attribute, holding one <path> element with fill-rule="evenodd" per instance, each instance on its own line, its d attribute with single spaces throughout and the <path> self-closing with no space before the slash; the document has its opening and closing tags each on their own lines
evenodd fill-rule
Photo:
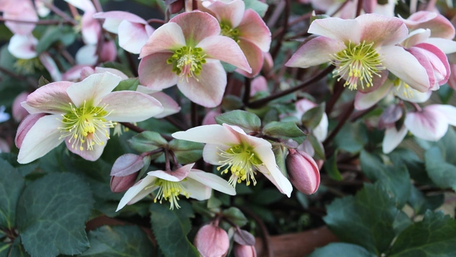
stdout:
<svg viewBox="0 0 456 257">
<path fill-rule="evenodd" d="M 166 60 L 166 63 L 172 64 L 173 72 L 180 75 L 182 79 L 185 77 L 189 81 L 189 77 L 194 77 L 196 81 L 199 81 L 196 76 L 201 74 L 201 70 L 203 70 L 203 64 L 206 63 L 205 56 L 201 47 L 182 46 Z"/>
</svg>

